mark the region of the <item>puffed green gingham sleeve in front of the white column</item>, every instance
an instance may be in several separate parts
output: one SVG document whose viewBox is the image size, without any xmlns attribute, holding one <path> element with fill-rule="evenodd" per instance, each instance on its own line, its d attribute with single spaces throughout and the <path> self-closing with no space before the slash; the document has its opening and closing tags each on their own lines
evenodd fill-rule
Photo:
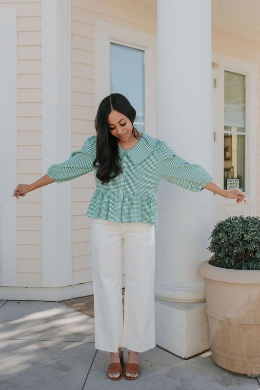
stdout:
<svg viewBox="0 0 260 390">
<path fill-rule="evenodd" d="M 201 165 L 185 161 L 161 140 L 158 168 L 161 178 L 189 191 L 200 192 L 213 181 L 213 177 Z"/>
</svg>

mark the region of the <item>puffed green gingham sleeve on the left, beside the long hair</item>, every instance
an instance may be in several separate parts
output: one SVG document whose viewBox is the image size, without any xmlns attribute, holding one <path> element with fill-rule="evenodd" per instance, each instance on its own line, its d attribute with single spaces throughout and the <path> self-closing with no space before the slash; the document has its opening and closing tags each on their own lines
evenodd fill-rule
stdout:
<svg viewBox="0 0 260 390">
<path fill-rule="evenodd" d="M 97 136 L 87 137 L 80 150 L 72 152 L 71 156 L 60 164 L 50 165 L 47 174 L 57 183 L 62 183 L 93 171 L 96 138 Z"/>
</svg>

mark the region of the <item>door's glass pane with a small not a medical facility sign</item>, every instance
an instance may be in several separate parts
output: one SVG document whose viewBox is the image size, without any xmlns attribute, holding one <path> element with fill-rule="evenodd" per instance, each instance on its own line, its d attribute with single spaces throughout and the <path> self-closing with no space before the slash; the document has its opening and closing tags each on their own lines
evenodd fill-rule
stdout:
<svg viewBox="0 0 260 390">
<path fill-rule="evenodd" d="M 245 191 L 245 76 L 225 71 L 224 189 Z"/>
</svg>

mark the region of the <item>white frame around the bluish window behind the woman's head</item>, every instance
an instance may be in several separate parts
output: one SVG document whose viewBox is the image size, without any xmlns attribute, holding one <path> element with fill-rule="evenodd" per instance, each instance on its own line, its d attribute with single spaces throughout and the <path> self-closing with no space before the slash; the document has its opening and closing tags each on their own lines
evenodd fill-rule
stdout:
<svg viewBox="0 0 260 390">
<path fill-rule="evenodd" d="M 144 51 L 144 131 L 156 136 L 156 35 L 96 19 L 95 106 L 110 94 L 110 43 Z M 131 102 L 130 102 L 131 103 Z"/>
</svg>

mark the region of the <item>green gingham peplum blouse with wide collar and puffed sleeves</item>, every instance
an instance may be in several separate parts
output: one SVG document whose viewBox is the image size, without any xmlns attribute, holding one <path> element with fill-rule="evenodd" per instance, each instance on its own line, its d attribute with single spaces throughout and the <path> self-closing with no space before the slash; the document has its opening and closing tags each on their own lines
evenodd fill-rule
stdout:
<svg viewBox="0 0 260 390">
<path fill-rule="evenodd" d="M 93 167 L 97 136 L 87 137 L 82 148 L 69 159 L 52 164 L 47 174 L 57 183 L 94 171 L 96 191 L 86 215 L 117 222 L 158 224 L 156 193 L 161 178 L 189 191 L 199 192 L 213 180 L 198 164 L 183 160 L 166 144 L 147 133 L 128 150 L 118 143 L 123 172 L 102 185 Z"/>
</svg>

